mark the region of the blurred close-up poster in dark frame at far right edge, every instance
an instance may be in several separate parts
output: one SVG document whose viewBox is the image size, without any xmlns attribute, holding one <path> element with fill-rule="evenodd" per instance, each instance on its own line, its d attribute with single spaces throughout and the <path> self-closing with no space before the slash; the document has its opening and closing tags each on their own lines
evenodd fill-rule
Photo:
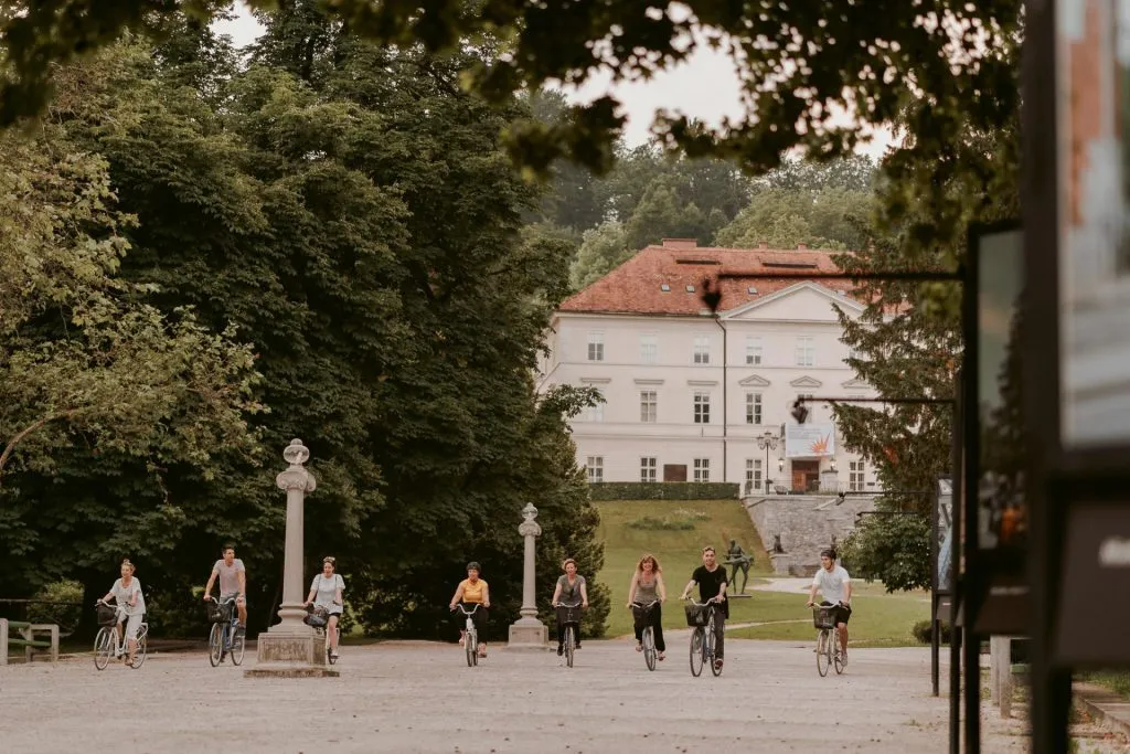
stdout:
<svg viewBox="0 0 1130 754">
<path fill-rule="evenodd" d="M 1055 3 L 1060 441 L 1130 445 L 1130 0 Z"/>
</svg>

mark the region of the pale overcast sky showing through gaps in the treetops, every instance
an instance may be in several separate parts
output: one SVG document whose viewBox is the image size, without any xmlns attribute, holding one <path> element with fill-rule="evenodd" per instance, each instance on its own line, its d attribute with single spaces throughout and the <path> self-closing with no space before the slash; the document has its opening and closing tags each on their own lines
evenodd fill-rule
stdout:
<svg viewBox="0 0 1130 754">
<path fill-rule="evenodd" d="M 219 21 L 215 28 L 229 34 L 236 46 L 243 46 L 259 36 L 261 27 L 242 2 L 237 3 L 236 12 L 238 17 L 235 20 Z M 566 95 L 573 102 L 585 103 L 611 92 L 627 115 L 625 141 L 635 147 L 647 141 L 657 110 L 671 110 L 710 125 L 718 125 L 725 116 L 740 118 L 740 90 L 741 85 L 729 57 L 722 51 L 699 45 L 685 62 L 647 81 L 611 85 L 611 75 L 608 73 L 590 79 L 579 90 L 566 90 Z M 849 116 L 844 114 L 835 120 L 846 122 Z M 860 146 L 857 151 L 878 158 L 890 144 L 889 131 L 880 131 L 871 144 Z"/>
</svg>

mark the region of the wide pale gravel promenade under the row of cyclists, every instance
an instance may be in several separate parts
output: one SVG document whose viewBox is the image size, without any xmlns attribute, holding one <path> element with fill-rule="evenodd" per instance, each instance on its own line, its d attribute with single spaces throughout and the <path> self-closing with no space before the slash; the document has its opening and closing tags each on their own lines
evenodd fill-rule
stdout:
<svg viewBox="0 0 1130 754">
<path fill-rule="evenodd" d="M 0 749 L 947 751 L 947 701 L 929 694 L 925 650 L 857 649 L 844 676 L 819 678 L 809 645 L 731 640 L 722 677 L 693 678 L 686 633 L 671 634 L 655 673 L 624 641 L 585 643 L 573 669 L 550 653 L 493 649 L 471 669 L 454 644 L 347 647 L 336 679 L 245 679 L 203 653 L 102 673 L 85 658 L 14 665 L 0 668 Z M 984 751 L 1025 751 L 1012 728 Z"/>
</svg>

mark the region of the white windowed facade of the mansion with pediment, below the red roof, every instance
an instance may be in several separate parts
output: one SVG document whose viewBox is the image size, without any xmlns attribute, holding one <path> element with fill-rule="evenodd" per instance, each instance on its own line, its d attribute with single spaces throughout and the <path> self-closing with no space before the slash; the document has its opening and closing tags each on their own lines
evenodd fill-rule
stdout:
<svg viewBox="0 0 1130 754">
<path fill-rule="evenodd" d="M 814 281 L 718 318 L 560 311 L 539 389 L 591 385 L 605 397 L 571 423 L 577 463 L 593 482 L 678 480 L 685 467 L 688 482 L 751 483 L 754 492 L 766 479 L 790 489 L 877 492 L 875 469 L 833 427 L 831 456 L 792 448 L 789 458 L 780 437 L 782 425 L 796 424 L 798 396 L 876 395 L 845 362 L 834 304 L 852 317 L 863 311 Z M 831 424 L 827 404 L 807 407 L 806 424 Z M 757 443 L 766 432 L 779 437 L 767 453 Z"/>
</svg>

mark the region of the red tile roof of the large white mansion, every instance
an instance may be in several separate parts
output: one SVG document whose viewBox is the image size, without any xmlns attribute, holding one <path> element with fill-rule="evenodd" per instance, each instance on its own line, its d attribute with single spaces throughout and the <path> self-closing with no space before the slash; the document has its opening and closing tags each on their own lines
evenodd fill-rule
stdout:
<svg viewBox="0 0 1130 754">
<path fill-rule="evenodd" d="M 697 315 L 706 307 L 701 297 L 703 280 L 709 279 L 714 286 L 720 271 L 781 272 L 781 277 L 773 278 L 722 280 L 719 311 L 725 312 L 797 285 L 808 279 L 806 274 L 840 271 L 832 261 L 837 253 L 842 252 L 698 248 L 685 240 L 668 239 L 664 245 L 647 246 L 589 287 L 573 294 L 562 302 L 559 311 Z M 851 280 L 816 281 L 833 291 L 851 292 L 853 288 Z M 664 283 L 670 291 L 662 289 Z M 694 286 L 694 293 L 688 293 L 687 286 Z M 749 293 L 750 287 L 756 293 Z"/>
</svg>

